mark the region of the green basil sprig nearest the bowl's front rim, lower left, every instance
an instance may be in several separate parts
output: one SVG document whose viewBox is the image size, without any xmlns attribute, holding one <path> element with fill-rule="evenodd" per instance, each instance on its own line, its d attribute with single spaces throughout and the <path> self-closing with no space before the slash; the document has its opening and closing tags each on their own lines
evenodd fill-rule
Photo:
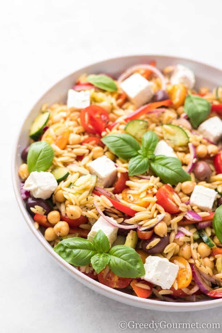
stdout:
<svg viewBox="0 0 222 333">
<path fill-rule="evenodd" d="M 133 248 L 125 245 L 109 248 L 107 236 L 99 230 L 93 243 L 80 237 L 67 238 L 59 242 L 54 251 L 75 266 L 91 263 L 97 273 L 109 265 L 111 271 L 120 277 L 137 278 L 145 275 L 142 260 Z"/>
</svg>

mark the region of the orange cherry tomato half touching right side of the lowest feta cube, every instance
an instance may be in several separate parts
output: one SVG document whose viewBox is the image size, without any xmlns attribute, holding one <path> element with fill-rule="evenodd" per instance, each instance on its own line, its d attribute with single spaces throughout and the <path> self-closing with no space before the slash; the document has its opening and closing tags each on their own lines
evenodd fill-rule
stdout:
<svg viewBox="0 0 222 333">
<path fill-rule="evenodd" d="M 177 264 L 180 263 L 181 266 L 183 267 L 179 267 L 179 271 L 177 274 L 177 284 L 178 284 L 178 289 L 183 289 L 188 287 L 188 285 L 190 284 L 191 280 L 192 280 L 192 270 L 190 267 L 189 262 L 184 259 L 183 257 L 172 257 L 170 259 L 170 262 Z"/>
</svg>

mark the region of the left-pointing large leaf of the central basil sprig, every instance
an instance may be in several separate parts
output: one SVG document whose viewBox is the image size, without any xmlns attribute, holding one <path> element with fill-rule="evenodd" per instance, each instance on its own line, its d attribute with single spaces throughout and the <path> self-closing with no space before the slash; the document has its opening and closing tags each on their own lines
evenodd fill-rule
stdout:
<svg viewBox="0 0 222 333">
<path fill-rule="evenodd" d="M 137 156 L 140 149 L 136 139 L 126 133 L 109 134 L 101 140 L 115 155 L 123 160 Z"/>
</svg>

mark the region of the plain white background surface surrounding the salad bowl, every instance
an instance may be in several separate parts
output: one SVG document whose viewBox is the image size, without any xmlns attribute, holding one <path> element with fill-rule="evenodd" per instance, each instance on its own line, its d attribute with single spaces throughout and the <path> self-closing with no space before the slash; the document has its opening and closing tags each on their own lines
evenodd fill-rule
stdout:
<svg viewBox="0 0 222 333">
<path fill-rule="evenodd" d="M 51 85 L 87 64 L 129 54 L 178 55 L 222 67 L 221 10 L 221 0 L 4 1 L 0 11 L 2 333 L 109 333 L 119 331 L 120 320 L 220 322 L 222 327 L 221 308 L 196 313 L 142 310 L 75 281 L 31 234 L 10 180 L 15 136 L 30 107 Z M 211 330 L 198 330 L 203 331 Z"/>
</svg>

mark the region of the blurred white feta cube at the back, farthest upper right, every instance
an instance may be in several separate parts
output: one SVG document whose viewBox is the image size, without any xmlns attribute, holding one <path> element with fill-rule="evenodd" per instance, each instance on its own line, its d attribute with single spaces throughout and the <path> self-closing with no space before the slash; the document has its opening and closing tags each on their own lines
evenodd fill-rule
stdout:
<svg viewBox="0 0 222 333">
<path fill-rule="evenodd" d="M 195 76 L 193 71 L 183 65 L 176 65 L 170 77 L 172 85 L 182 83 L 186 88 L 192 89 L 195 85 Z"/>
</svg>

